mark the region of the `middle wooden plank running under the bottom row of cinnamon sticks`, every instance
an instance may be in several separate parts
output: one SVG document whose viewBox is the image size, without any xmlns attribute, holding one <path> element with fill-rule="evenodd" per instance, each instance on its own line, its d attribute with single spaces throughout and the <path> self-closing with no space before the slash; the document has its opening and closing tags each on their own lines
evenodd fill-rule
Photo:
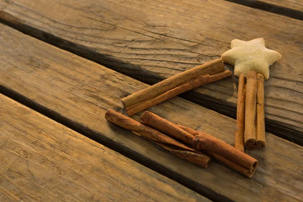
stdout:
<svg viewBox="0 0 303 202">
<path fill-rule="evenodd" d="M 107 109 L 124 111 L 121 97 L 148 85 L 10 27 L 0 27 L 1 92 L 211 199 L 303 198 L 301 146 L 268 133 L 264 149 L 248 151 L 259 160 L 252 179 L 216 162 L 203 169 L 104 119 Z M 169 99 L 150 111 L 230 144 L 234 142 L 234 119 L 182 98 Z"/>
</svg>

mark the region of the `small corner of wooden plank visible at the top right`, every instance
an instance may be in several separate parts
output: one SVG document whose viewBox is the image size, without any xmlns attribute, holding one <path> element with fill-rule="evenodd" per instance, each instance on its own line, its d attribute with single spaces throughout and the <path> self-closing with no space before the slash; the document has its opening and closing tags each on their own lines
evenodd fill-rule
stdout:
<svg viewBox="0 0 303 202">
<path fill-rule="evenodd" d="M 279 15 L 303 20 L 303 2 L 301 0 L 226 0 L 237 4 L 262 9 Z"/>
</svg>

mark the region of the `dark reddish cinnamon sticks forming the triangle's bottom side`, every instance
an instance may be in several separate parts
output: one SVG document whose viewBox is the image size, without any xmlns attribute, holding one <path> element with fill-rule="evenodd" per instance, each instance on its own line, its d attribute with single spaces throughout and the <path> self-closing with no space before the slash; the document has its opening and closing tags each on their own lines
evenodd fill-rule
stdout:
<svg viewBox="0 0 303 202">
<path fill-rule="evenodd" d="M 258 165 L 256 159 L 216 137 L 174 124 L 148 111 L 140 117 L 141 123 L 113 110 L 108 110 L 105 118 L 135 134 L 153 140 L 174 155 L 202 167 L 209 165 L 209 156 L 212 156 L 251 178 Z"/>
</svg>

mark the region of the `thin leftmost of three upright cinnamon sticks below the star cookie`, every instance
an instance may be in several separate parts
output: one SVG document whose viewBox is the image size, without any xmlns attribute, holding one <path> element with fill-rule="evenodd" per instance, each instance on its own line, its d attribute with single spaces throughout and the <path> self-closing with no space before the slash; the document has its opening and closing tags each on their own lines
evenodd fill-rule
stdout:
<svg viewBox="0 0 303 202">
<path fill-rule="evenodd" d="M 240 74 L 238 83 L 237 128 L 235 148 L 244 152 L 244 116 L 245 116 L 245 78 Z"/>
</svg>

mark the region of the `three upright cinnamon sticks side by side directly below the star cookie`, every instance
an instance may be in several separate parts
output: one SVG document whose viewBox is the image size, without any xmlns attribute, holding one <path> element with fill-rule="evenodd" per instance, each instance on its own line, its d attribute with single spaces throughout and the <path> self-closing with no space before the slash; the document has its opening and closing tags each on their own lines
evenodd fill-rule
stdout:
<svg viewBox="0 0 303 202">
<path fill-rule="evenodd" d="M 249 71 L 239 76 L 237 103 L 237 129 L 235 147 L 244 151 L 247 149 L 262 148 L 265 139 L 265 112 L 264 112 L 264 77 Z"/>
</svg>

